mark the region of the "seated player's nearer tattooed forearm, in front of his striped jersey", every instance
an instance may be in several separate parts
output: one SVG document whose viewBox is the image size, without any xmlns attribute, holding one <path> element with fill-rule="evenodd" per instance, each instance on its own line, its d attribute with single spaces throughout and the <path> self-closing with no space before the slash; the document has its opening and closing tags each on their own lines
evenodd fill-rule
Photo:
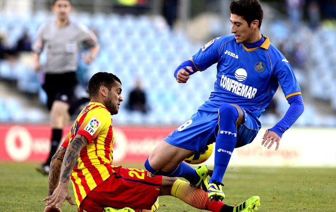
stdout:
<svg viewBox="0 0 336 212">
<path fill-rule="evenodd" d="M 77 162 L 80 150 L 88 143 L 88 139 L 82 135 L 76 135 L 75 139 L 70 142 L 63 159 L 59 182 L 69 183 L 71 171 Z"/>
</svg>

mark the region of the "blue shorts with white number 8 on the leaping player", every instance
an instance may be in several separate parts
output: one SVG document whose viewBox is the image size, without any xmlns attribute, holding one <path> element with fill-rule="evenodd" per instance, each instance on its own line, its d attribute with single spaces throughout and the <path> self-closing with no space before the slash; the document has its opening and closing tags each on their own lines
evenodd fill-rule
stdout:
<svg viewBox="0 0 336 212">
<path fill-rule="evenodd" d="M 236 147 L 241 147 L 254 140 L 259 127 L 255 119 L 243 110 L 246 120 L 238 127 Z M 172 131 L 164 141 L 185 149 L 201 152 L 206 145 L 216 141 L 218 134 L 218 112 L 198 110 L 185 123 Z"/>
</svg>

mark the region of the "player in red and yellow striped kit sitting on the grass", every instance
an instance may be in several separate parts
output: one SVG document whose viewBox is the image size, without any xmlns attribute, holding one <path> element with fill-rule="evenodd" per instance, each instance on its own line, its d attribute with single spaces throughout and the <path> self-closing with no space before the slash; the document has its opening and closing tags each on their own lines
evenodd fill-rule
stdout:
<svg viewBox="0 0 336 212">
<path fill-rule="evenodd" d="M 123 101 L 121 81 L 112 73 L 98 72 L 91 77 L 88 90 L 89 105 L 82 109 L 52 159 L 44 212 L 60 212 L 65 200 L 76 204 L 79 212 L 154 212 L 159 195 L 172 195 L 193 207 L 212 212 L 246 209 L 252 203 L 258 206 L 258 197 L 254 201 L 249 199 L 229 206 L 209 201 L 204 190 L 177 177 L 112 165 L 114 131 L 111 115 L 118 113 Z M 203 179 L 206 177 L 204 175 Z M 75 203 L 68 191 L 70 179 Z"/>
</svg>

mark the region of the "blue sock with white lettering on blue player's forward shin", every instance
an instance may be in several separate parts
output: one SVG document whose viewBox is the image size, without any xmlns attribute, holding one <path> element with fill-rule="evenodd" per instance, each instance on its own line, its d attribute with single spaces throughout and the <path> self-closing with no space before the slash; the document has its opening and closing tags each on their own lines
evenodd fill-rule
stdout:
<svg viewBox="0 0 336 212">
<path fill-rule="evenodd" d="M 215 145 L 215 165 L 210 183 L 222 182 L 232 152 L 237 143 L 238 110 L 234 106 L 224 105 L 219 109 L 219 131 Z"/>
</svg>

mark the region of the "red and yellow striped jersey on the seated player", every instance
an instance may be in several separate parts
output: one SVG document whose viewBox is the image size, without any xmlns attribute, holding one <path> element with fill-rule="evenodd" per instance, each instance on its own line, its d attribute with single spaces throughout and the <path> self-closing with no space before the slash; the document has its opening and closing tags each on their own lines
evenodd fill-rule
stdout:
<svg viewBox="0 0 336 212">
<path fill-rule="evenodd" d="M 89 144 L 80 151 L 71 173 L 76 204 L 79 207 L 84 197 L 114 172 L 114 133 L 110 111 L 100 103 L 90 102 L 76 118 L 62 146 L 67 147 L 76 134 L 89 140 Z"/>
</svg>

